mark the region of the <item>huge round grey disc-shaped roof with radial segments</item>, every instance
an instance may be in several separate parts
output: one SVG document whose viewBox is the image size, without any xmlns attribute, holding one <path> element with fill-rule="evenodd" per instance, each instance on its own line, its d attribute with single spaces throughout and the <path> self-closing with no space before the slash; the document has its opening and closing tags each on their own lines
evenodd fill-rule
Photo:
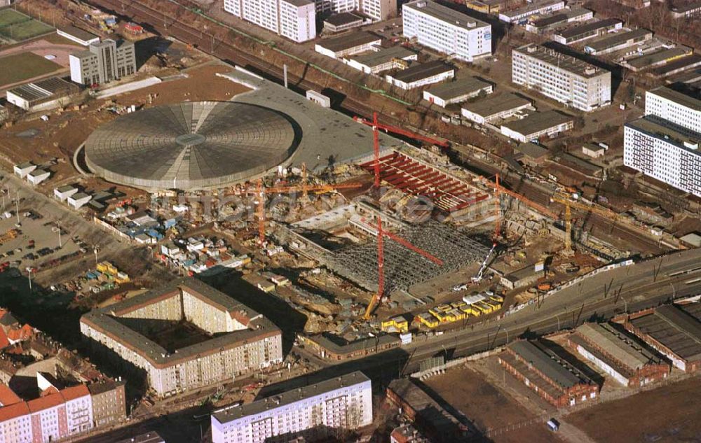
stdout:
<svg viewBox="0 0 701 443">
<path fill-rule="evenodd" d="M 86 163 L 109 181 L 137 188 L 216 188 L 284 162 L 297 141 L 292 120 L 278 111 L 243 103 L 185 102 L 102 125 L 86 141 Z"/>
</svg>

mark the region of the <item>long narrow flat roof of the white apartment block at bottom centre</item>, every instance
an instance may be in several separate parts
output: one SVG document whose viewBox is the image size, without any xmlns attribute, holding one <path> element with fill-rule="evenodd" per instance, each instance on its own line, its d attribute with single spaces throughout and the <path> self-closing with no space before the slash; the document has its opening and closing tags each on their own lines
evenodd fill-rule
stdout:
<svg viewBox="0 0 701 443">
<path fill-rule="evenodd" d="M 270 397 L 261 398 L 261 400 L 256 400 L 248 403 L 247 405 L 221 408 L 220 412 L 215 411 L 215 413 L 212 414 L 212 417 L 219 421 L 219 423 L 229 423 L 245 416 L 266 412 L 268 409 L 292 405 L 293 403 L 306 400 L 307 398 L 313 398 L 317 395 L 334 391 L 335 389 L 355 386 L 368 381 L 370 381 L 370 379 L 367 378 L 365 374 L 360 371 L 355 371 L 351 372 L 350 374 L 341 375 L 341 377 L 334 377 L 333 379 L 321 381 L 320 383 L 292 389 L 292 391 L 286 391 L 278 395 L 271 395 Z"/>
</svg>

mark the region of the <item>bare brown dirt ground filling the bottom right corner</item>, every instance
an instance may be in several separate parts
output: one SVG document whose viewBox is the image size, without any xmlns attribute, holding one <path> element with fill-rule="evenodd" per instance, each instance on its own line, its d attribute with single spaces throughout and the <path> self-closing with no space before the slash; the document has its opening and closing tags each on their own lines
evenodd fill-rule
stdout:
<svg viewBox="0 0 701 443">
<path fill-rule="evenodd" d="M 597 442 L 698 442 L 701 379 L 662 386 L 566 417 Z"/>
</svg>

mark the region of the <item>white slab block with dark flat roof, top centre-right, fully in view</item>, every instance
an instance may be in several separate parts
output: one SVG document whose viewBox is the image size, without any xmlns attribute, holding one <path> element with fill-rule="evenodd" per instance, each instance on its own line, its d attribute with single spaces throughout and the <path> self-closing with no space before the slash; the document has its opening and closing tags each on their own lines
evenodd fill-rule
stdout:
<svg viewBox="0 0 701 443">
<path fill-rule="evenodd" d="M 452 57 L 472 62 L 491 54 L 491 24 L 435 1 L 404 3 L 402 23 L 404 37 Z"/>
</svg>

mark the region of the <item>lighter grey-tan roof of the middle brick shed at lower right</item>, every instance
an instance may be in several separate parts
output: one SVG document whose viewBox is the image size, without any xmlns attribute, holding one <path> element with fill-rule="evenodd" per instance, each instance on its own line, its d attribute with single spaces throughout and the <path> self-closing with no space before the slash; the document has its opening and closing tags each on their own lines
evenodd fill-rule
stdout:
<svg viewBox="0 0 701 443">
<path fill-rule="evenodd" d="M 632 370 L 639 370 L 645 365 L 662 363 L 662 358 L 635 343 L 631 337 L 615 330 L 608 323 L 584 323 L 576 331 L 587 342 L 598 346 L 608 356 Z"/>
</svg>

